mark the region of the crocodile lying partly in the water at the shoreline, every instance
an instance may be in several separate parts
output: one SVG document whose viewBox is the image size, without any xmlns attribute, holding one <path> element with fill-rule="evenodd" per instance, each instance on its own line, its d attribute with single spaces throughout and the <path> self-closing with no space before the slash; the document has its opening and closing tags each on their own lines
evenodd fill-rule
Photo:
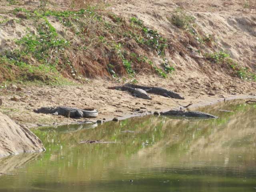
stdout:
<svg viewBox="0 0 256 192">
<path fill-rule="evenodd" d="M 160 115 L 171 115 L 171 116 L 183 116 L 183 117 L 195 117 L 203 119 L 218 118 L 217 116 L 200 112 L 200 111 L 182 111 L 182 110 L 170 110 L 167 112 L 160 112 Z"/>
</svg>

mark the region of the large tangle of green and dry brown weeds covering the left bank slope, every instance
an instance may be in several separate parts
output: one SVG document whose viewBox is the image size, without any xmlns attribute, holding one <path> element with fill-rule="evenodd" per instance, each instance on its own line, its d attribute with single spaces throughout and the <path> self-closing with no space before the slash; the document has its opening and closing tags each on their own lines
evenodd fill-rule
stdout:
<svg viewBox="0 0 256 192">
<path fill-rule="evenodd" d="M 156 66 L 148 59 L 150 50 L 164 60 L 168 44 L 156 30 L 144 26 L 142 20 L 133 17 L 127 22 L 113 13 L 104 13 L 90 6 L 79 11 L 47 10 L 47 4 L 42 0 L 36 10 L 15 8 L 11 12 L 19 16 L 15 22 L 26 19 L 34 24 L 31 26 L 33 30 L 28 28 L 28 34 L 15 41 L 18 48 L 0 56 L 5 63 L 1 66 L 2 71 L 11 72 L 15 68 L 13 75 L 2 76 L 2 80 L 15 80 L 20 74 L 26 74 L 22 78 L 25 81 L 38 78 L 46 84 L 59 79 L 60 74 L 68 74 L 76 80 L 99 74 L 113 78 L 127 74 L 134 78 L 144 69 L 152 69 L 166 78 L 174 70 L 168 61 Z M 62 24 L 63 32 L 54 27 L 56 21 Z M 135 49 L 127 46 L 129 39 L 135 40 Z M 93 61 L 92 56 L 86 56 L 90 52 L 101 59 Z M 99 72 L 102 64 L 106 68 Z M 39 78 L 39 74 L 45 78 Z"/>
</svg>

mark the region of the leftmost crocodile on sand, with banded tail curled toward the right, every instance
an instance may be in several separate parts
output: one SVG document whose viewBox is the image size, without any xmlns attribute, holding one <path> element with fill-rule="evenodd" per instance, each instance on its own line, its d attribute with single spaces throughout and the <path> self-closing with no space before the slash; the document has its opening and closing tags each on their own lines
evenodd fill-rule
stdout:
<svg viewBox="0 0 256 192">
<path fill-rule="evenodd" d="M 62 115 L 71 118 L 95 118 L 98 116 L 98 111 L 95 109 L 78 109 L 66 106 L 59 107 L 42 107 L 38 110 L 34 110 L 36 113 Z"/>
</svg>

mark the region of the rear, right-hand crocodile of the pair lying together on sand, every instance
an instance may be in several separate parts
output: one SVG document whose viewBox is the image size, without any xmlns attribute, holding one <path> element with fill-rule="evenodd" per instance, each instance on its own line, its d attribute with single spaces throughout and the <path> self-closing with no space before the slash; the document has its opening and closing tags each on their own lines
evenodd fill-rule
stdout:
<svg viewBox="0 0 256 192">
<path fill-rule="evenodd" d="M 164 88 L 160 88 L 160 87 L 147 87 L 147 86 L 139 86 L 139 85 L 134 85 L 134 84 L 125 84 L 124 86 L 126 87 L 131 87 L 131 88 L 138 88 L 138 89 L 143 89 L 148 93 L 154 93 L 157 95 L 162 95 L 165 97 L 171 97 L 174 99 L 184 99 L 184 97 L 180 96 L 178 93 L 173 92 L 173 91 L 169 91 L 167 89 Z"/>
</svg>

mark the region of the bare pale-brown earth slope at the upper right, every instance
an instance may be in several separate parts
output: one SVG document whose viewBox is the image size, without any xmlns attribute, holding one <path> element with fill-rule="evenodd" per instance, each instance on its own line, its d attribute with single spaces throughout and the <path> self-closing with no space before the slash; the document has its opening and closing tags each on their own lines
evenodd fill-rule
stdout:
<svg viewBox="0 0 256 192">
<path fill-rule="evenodd" d="M 174 26 L 170 19 L 173 14 L 181 12 L 195 18 L 193 27 L 198 38 L 200 34 L 212 36 L 214 43 L 208 47 L 210 51 L 223 50 L 230 54 L 231 58 L 241 63 L 244 67 L 256 71 L 256 6 L 249 11 L 244 9 L 241 1 L 176 1 L 176 0 L 121 0 L 119 4 L 110 8 L 116 14 L 126 16 L 136 16 L 154 30 L 164 34 L 166 38 L 182 46 L 183 52 L 192 49 L 198 50 L 199 43 L 193 43 L 193 38 L 187 36 L 186 30 Z M 193 28 L 192 28 L 193 29 Z M 213 49 L 212 49 L 213 48 Z M 204 47 L 202 47 L 204 49 Z M 178 74 L 182 78 L 203 76 L 223 76 L 220 66 L 205 68 L 198 66 L 198 58 L 193 58 L 187 52 L 185 57 L 180 56 L 180 50 L 175 50 L 172 60 L 180 68 Z M 198 55 L 199 56 L 199 55 Z M 202 62 L 202 61 L 201 61 Z M 216 70 L 216 68 L 218 68 Z M 180 70 L 181 71 L 180 71 Z M 191 72 L 192 70 L 192 72 Z M 202 71 L 205 70 L 205 71 Z M 206 72 L 207 71 L 207 72 Z M 201 74 L 206 72 L 206 74 Z M 222 73 L 222 74 L 220 74 Z M 201 76 L 202 75 L 202 76 Z M 226 77 L 224 77 L 226 78 Z"/>
</svg>

